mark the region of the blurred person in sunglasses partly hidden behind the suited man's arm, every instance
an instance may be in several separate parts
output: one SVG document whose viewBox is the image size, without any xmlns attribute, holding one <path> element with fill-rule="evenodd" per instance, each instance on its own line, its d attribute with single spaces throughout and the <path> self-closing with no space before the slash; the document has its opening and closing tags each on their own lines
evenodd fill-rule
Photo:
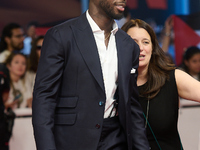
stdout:
<svg viewBox="0 0 200 150">
<path fill-rule="evenodd" d="M 38 67 L 38 62 L 41 54 L 41 48 L 43 44 L 44 36 L 37 37 L 32 42 L 31 53 L 28 58 L 28 70 L 26 73 L 27 80 L 30 81 L 30 87 L 33 88 L 35 82 L 35 75 Z"/>
</svg>

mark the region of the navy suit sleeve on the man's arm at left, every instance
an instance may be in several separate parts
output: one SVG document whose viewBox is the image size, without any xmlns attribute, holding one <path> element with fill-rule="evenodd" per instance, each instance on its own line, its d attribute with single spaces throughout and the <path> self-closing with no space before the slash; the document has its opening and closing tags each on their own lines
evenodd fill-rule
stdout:
<svg viewBox="0 0 200 150">
<path fill-rule="evenodd" d="M 59 32 L 50 29 L 44 38 L 33 92 L 32 123 L 37 150 L 56 150 L 54 112 L 64 66 Z"/>
</svg>

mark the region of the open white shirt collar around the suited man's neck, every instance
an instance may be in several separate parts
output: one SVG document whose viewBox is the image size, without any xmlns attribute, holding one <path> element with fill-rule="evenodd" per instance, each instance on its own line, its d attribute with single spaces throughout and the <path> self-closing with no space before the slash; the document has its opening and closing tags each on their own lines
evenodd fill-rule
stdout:
<svg viewBox="0 0 200 150">
<path fill-rule="evenodd" d="M 90 16 L 88 10 L 86 11 L 86 18 L 92 28 L 92 32 L 95 33 L 95 32 L 102 32 L 102 30 L 99 28 L 99 26 L 96 24 L 96 22 L 92 19 L 92 17 Z M 118 31 L 118 25 L 117 23 L 113 22 L 113 29 L 111 31 L 111 33 L 113 34 L 116 34 L 116 32 Z"/>
</svg>

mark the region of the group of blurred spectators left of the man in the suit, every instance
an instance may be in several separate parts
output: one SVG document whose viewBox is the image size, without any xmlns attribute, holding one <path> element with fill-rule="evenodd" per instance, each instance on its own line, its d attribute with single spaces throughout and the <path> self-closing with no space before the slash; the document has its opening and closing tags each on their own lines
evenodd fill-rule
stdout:
<svg viewBox="0 0 200 150">
<path fill-rule="evenodd" d="M 5 120 L 4 114 L 10 109 L 32 108 L 33 86 L 44 36 L 36 36 L 33 25 L 28 27 L 27 36 L 17 23 L 6 25 L 1 34 L 1 120 Z M 7 133 L 3 132 L 7 123 L 1 124 L 0 149 L 7 150 L 8 140 L 2 140 L 7 137 Z"/>
</svg>

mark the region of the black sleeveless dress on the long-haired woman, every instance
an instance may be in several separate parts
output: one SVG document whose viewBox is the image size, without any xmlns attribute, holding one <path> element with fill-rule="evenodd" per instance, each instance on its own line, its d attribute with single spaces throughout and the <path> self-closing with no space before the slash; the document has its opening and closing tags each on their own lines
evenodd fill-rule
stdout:
<svg viewBox="0 0 200 150">
<path fill-rule="evenodd" d="M 181 150 L 177 130 L 179 96 L 175 81 L 174 70 L 160 92 L 149 101 L 148 122 L 162 150 Z M 142 90 L 146 84 L 139 86 Z M 147 114 L 147 98 L 140 97 L 139 102 L 144 114 Z M 147 137 L 151 150 L 159 150 L 150 128 L 147 126 Z"/>
</svg>

